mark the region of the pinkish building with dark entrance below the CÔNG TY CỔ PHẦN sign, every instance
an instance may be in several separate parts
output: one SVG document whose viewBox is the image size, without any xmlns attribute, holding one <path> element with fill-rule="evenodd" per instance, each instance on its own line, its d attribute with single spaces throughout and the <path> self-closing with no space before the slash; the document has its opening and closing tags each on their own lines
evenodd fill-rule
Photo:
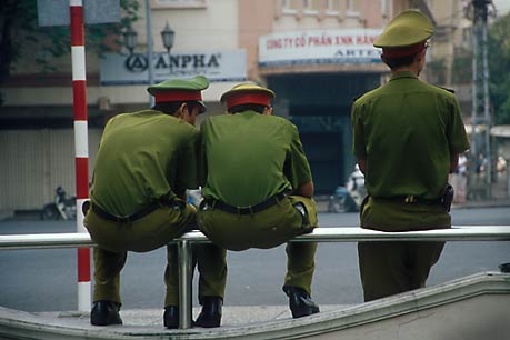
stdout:
<svg viewBox="0 0 510 340">
<path fill-rule="evenodd" d="M 431 14 L 423 1 L 240 1 L 248 76 L 274 90 L 276 113 L 298 126 L 320 194 L 354 170 L 351 102 L 387 78 L 372 43 L 410 8 Z"/>
</svg>

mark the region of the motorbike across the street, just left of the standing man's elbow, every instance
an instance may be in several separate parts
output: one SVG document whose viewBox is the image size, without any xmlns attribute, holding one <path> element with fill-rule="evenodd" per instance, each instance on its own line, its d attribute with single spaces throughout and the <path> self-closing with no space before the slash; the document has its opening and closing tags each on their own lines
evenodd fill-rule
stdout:
<svg viewBox="0 0 510 340">
<path fill-rule="evenodd" d="M 334 193 L 329 197 L 328 211 L 337 213 L 359 211 L 366 196 L 364 176 L 357 164 L 346 187 L 337 187 Z"/>
</svg>

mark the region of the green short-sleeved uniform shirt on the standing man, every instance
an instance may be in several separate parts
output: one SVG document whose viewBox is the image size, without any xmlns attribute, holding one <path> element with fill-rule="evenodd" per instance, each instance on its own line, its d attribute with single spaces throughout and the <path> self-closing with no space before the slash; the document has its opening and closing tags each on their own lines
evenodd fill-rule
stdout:
<svg viewBox="0 0 510 340">
<path fill-rule="evenodd" d="M 366 187 L 373 198 L 440 198 L 450 154 L 469 148 L 456 97 L 411 72 L 398 72 L 359 98 L 351 119 L 353 151 L 367 161 Z"/>
</svg>

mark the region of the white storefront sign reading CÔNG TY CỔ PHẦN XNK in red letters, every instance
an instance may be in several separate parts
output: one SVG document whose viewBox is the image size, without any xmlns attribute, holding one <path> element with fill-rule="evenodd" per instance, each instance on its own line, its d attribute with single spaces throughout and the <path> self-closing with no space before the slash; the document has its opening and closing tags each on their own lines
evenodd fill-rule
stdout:
<svg viewBox="0 0 510 340">
<path fill-rule="evenodd" d="M 381 62 L 379 29 L 282 32 L 259 38 L 259 66 Z"/>
</svg>

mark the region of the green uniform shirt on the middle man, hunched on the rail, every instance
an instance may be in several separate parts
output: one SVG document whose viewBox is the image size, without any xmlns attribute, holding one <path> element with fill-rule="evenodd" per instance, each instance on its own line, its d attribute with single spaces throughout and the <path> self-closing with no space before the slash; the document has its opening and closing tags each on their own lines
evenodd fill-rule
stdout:
<svg viewBox="0 0 510 340">
<path fill-rule="evenodd" d="M 222 114 L 200 130 L 204 197 L 248 207 L 311 181 L 298 129 L 284 118 Z"/>
</svg>

